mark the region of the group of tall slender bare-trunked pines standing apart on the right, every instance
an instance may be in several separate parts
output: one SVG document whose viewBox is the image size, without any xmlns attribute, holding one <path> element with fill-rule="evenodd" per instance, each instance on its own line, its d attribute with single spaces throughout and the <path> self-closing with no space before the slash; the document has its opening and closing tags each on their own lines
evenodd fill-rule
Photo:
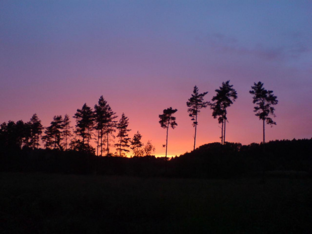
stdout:
<svg viewBox="0 0 312 234">
<path fill-rule="evenodd" d="M 263 143 L 265 143 L 265 123 L 267 124 L 276 124 L 271 118 L 275 117 L 274 111 L 275 108 L 273 105 L 278 103 L 277 97 L 273 95 L 273 91 L 263 88 L 263 83 L 258 82 L 254 83 L 254 86 L 251 87 L 252 90 L 249 91 L 253 96 L 253 103 L 256 104 L 254 107 L 254 112 L 260 120 L 263 121 Z M 212 116 L 215 119 L 218 119 L 218 123 L 221 124 L 221 144 L 225 144 L 225 126 L 227 120 L 227 108 L 233 104 L 238 98 L 237 92 L 233 89 L 233 86 L 229 84 L 229 81 L 223 82 L 222 86 L 219 89 L 215 90 L 216 95 L 212 97 L 211 102 L 205 102 L 204 96 L 208 92 L 202 94 L 198 93 L 197 86 L 194 87 L 193 94 L 191 98 L 186 103 L 188 107 L 189 116 L 193 121 L 192 125 L 195 128 L 194 134 L 194 148 L 196 146 L 196 130 L 197 130 L 197 117 L 202 108 L 210 107 L 212 110 Z M 178 124 L 176 118 L 173 116 L 178 110 L 173 109 L 172 107 L 167 108 L 163 111 L 162 115 L 159 115 L 160 124 L 163 128 L 167 129 L 167 139 L 166 139 L 166 158 L 167 158 L 167 144 L 168 144 L 168 130 L 169 127 L 175 128 Z"/>
</svg>

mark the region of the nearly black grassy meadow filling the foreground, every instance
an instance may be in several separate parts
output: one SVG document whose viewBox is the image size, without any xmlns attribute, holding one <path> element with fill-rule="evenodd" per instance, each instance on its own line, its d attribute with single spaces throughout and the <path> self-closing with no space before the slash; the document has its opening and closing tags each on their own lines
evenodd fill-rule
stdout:
<svg viewBox="0 0 312 234">
<path fill-rule="evenodd" d="M 0 233 L 310 233 L 312 180 L 0 174 Z"/>
</svg>

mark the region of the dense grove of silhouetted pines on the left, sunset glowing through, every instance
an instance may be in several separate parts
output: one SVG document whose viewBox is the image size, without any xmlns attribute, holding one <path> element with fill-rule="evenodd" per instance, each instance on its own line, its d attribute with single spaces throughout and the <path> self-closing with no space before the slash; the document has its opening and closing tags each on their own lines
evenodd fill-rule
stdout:
<svg viewBox="0 0 312 234">
<path fill-rule="evenodd" d="M 53 117 L 50 126 L 43 127 L 37 114 L 34 114 L 29 122 L 22 120 L 4 122 L 0 126 L 0 141 L 4 147 L 8 148 L 38 148 L 40 139 L 46 149 L 75 150 L 96 155 L 124 157 L 130 150 L 133 155 L 141 157 L 151 155 L 155 147 L 150 140 L 144 145 L 141 141 L 141 134 L 137 131 L 131 139 L 128 136 L 129 119 L 122 113 L 119 121 L 118 116 L 112 110 L 103 96 L 100 97 L 94 110 L 87 104 L 82 109 L 77 109 L 73 118 L 76 121 L 75 129 L 70 126 L 69 116 L 64 118 L 61 115 Z M 117 131 L 117 135 L 114 133 Z M 115 152 L 110 151 L 111 138 L 117 137 Z M 96 140 L 96 148 L 92 146 L 92 140 Z M 144 147 L 143 147 L 144 146 Z"/>
</svg>

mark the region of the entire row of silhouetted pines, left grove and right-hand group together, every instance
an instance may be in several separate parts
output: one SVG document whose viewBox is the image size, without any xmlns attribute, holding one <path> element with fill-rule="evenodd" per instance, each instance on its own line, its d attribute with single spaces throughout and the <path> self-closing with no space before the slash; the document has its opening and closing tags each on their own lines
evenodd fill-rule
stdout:
<svg viewBox="0 0 312 234">
<path fill-rule="evenodd" d="M 253 95 L 253 103 L 256 104 L 254 112 L 260 120 L 263 121 L 263 143 L 265 143 L 265 123 L 276 124 L 270 116 L 274 115 L 274 107 L 278 103 L 277 97 L 273 95 L 273 91 L 267 91 L 263 88 L 263 83 L 254 83 L 251 87 L 250 94 Z M 219 89 L 215 90 L 216 95 L 213 96 L 211 102 L 204 101 L 204 96 L 208 92 L 200 94 L 197 86 L 194 87 L 191 98 L 186 103 L 188 113 L 193 121 L 195 128 L 194 150 L 196 146 L 196 130 L 197 117 L 202 108 L 210 107 L 213 118 L 221 124 L 221 144 L 225 143 L 225 127 L 227 120 L 227 108 L 233 104 L 238 98 L 237 92 L 229 81 L 223 82 Z M 173 115 L 177 109 L 172 107 L 163 111 L 159 115 L 161 127 L 167 129 L 166 139 L 166 158 L 168 146 L 168 130 L 175 128 L 178 124 L 176 117 Z M 118 116 L 112 110 L 110 105 L 100 97 L 94 109 L 86 103 L 82 109 L 77 109 L 73 118 L 75 119 L 75 129 L 70 126 L 69 116 L 66 114 L 64 118 L 61 115 L 53 117 L 50 126 L 43 127 L 40 119 L 36 114 L 32 116 L 29 122 L 24 123 L 22 120 L 4 122 L 0 126 L 0 142 L 3 146 L 9 148 L 38 148 L 40 139 L 44 147 L 47 149 L 57 150 L 75 150 L 91 152 L 99 156 L 119 156 L 124 157 L 130 149 L 133 155 L 140 157 L 143 155 L 151 155 L 155 151 L 155 147 L 148 140 L 146 145 L 141 141 L 141 134 L 137 131 L 131 139 L 128 132 L 129 119 L 122 113 L 121 118 L 117 121 Z M 117 132 L 117 133 L 116 133 Z M 113 139 L 117 138 L 115 144 L 111 144 Z M 95 140 L 96 147 L 91 142 Z M 115 151 L 111 150 L 111 146 L 115 147 Z M 144 147 L 143 147 L 144 146 Z"/>
</svg>

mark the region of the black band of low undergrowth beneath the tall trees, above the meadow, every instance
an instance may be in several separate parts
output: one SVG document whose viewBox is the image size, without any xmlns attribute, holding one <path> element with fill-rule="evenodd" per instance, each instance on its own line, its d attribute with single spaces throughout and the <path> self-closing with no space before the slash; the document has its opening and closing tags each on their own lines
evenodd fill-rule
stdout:
<svg viewBox="0 0 312 234">
<path fill-rule="evenodd" d="M 263 144 L 204 144 L 166 161 L 154 156 L 97 157 L 84 151 L 54 149 L 5 150 L 1 171 L 182 178 L 257 176 L 267 171 L 294 171 L 312 176 L 312 138 L 275 140 Z"/>
</svg>

